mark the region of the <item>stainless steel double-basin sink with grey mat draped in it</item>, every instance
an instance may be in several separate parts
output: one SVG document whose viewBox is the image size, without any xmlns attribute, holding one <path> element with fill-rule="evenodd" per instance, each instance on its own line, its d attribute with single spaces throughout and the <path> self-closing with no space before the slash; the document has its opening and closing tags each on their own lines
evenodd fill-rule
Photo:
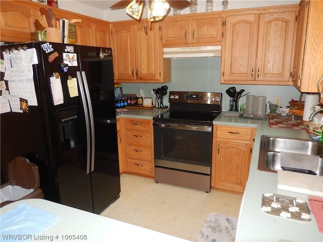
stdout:
<svg viewBox="0 0 323 242">
<path fill-rule="evenodd" d="M 258 170 L 268 172 L 282 170 L 280 165 L 280 152 L 282 151 L 320 156 L 318 169 L 313 174 L 323 176 L 323 147 L 320 142 L 278 136 L 261 136 Z M 298 172 L 312 173 L 312 171 L 305 170 L 299 170 Z"/>
</svg>

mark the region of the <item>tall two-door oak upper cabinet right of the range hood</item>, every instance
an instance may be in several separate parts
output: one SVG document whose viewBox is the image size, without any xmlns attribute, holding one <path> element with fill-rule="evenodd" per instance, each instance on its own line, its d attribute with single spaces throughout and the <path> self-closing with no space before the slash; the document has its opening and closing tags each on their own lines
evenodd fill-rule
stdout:
<svg viewBox="0 0 323 242">
<path fill-rule="evenodd" d="M 295 15 L 228 16 L 221 83 L 291 85 Z"/>
</svg>

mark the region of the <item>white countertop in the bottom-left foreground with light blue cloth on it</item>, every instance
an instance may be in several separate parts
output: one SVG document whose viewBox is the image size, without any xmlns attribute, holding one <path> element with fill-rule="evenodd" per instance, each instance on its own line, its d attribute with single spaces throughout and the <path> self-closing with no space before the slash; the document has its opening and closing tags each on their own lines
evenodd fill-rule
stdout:
<svg viewBox="0 0 323 242">
<path fill-rule="evenodd" d="M 32 239 L 28 241 L 188 241 L 44 199 L 16 201 L 2 207 L 1 214 L 5 214 L 23 203 L 61 217 L 61 220 L 46 230 L 39 234 L 31 235 Z M 73 239 L 73 237 L 69 237 L 69 235 L 79 235 L 82 236 L 83 239 Z M 50 236 L 52 237 L 50 238 Z M 3 239 L 1 239 L 1 241 L 3 241 Z"/>
</svg>

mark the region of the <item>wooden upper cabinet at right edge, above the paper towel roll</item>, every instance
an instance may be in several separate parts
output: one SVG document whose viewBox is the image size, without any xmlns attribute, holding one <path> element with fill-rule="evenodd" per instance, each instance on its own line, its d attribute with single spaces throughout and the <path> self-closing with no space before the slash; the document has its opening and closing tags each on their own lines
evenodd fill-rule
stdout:
<svg viewBox="0 0 323 242">
<path fill-rule="evenodd" d="M 323 92 L 323 1 L 302 1 L 297 14 L 293 84 L 301 92 Z"/>
</svg>

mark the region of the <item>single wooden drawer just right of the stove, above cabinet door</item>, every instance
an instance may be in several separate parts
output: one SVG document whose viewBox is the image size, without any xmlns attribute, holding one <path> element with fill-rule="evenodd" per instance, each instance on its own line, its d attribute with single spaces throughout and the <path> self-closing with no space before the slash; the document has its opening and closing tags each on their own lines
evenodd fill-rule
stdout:
<svg viewBox="0 0 323 242">
<path fill-rule="evenodd" d="M 218 126 L 217 138 L 251 141 L 251 129 L 234 126 Z"/>
</svg>

